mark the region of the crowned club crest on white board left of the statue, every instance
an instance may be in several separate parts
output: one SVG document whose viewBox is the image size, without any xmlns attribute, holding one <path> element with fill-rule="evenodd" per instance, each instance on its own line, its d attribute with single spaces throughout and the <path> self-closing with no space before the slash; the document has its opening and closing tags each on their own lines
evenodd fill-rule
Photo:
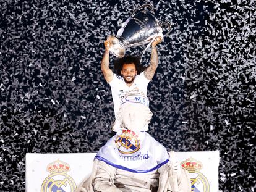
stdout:
<svg viewBox="0 0 256 192">
<path fill-rule="evenodd" d="M 69 164 L 58 159 L 47 166 L 47 171 L 51 174 L 43 181 L 41 192 L 75 191 L 75 181 L 67 175 L 70 171 Z"/>
</svg>

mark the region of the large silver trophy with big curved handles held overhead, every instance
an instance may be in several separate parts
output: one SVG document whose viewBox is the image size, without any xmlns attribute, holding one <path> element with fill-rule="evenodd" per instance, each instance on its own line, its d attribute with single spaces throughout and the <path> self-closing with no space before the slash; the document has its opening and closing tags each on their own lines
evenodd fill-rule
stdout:
<svg viewBox="0 0 256 192">
<path fill-rule="evenodd" d="M 141 10 L 144 7 L 150 11 Z M 150 43 L 155 36 L 162 34 L 164 27 L 168 28 L 163 35 L 166 36 L 171 32 L 171 23 L 160 22 L 155 17 L 153 5 L 143 4 L 122 24 L 116 36 L 109 36 L 109 51 L 116 57 L 124 57 L 126 48 Z"/>
</svg>

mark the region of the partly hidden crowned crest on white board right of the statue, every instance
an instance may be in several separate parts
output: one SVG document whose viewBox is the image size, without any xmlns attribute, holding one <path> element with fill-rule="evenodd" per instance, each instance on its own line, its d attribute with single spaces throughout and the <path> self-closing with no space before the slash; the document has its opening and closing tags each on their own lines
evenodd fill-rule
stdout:
<svg viewBox="0 0 256 192">
<path fill-rule="evenodd" d="M 182 161 L 181 166 L 189 172 L 192 192 L 210 191 L 210 185 L 207 177 L 200 172 L 200 170 L 203 169 L 202 162 L 190 157 L 189 159 Z"/>
</svg>

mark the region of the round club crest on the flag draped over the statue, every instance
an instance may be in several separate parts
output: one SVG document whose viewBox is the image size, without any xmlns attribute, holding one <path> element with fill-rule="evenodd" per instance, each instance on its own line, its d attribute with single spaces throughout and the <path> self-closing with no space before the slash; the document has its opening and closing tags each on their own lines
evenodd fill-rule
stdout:
<svg viewBox="0 0 256 192">
<path fill-rule="evenodd" d="M 140 149 L 138 136 L 130 130 L 123 130 L 122 134 L 116 137 L 115 143 L 121 154 L 133 154 Z"/>
</svg>

